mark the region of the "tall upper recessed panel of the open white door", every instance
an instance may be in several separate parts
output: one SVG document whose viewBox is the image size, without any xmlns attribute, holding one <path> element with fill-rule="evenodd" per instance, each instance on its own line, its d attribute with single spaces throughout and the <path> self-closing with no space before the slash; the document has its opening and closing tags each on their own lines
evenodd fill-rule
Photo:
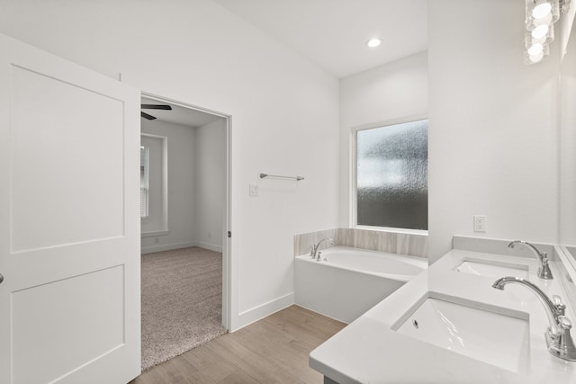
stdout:
<svg viewBox="0 0 576 384">
<path fill-rule="evenodd" d="M 12 251 L 123 236 L 121 100 L 22 67 L 12 83 Z"/>
</svg>

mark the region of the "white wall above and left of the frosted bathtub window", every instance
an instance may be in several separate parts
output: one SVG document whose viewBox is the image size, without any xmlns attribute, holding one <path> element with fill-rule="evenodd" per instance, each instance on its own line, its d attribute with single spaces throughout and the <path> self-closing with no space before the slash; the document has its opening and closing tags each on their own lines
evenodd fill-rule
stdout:
<svg viewBox="0 0 576 384">
<path fill-rule="evenodd" d="M 428 116 L 428 52 L 340 80 L 340 227 L 350 218 L 352 129 Z"/>
</svg>

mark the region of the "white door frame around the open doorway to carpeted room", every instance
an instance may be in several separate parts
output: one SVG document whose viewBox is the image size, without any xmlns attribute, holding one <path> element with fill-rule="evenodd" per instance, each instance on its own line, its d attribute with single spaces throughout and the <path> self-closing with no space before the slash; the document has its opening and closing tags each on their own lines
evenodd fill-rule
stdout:
<svg viewBox="0 0 576 384">
<path fill-rule="evenodd" d="M 226 201 L 224 210 L 224 227 L 222 233 L 222 326 L 228 331 L 231 328 L 231 246 L 229 233 L 232 228 L 232 127 L 231 116 L 226 113 L 212 111 L 197 105 L 179 102 L 165 96 L 142 92 L 142 97 L 155 100 L 159 103 L 168 103 L 184 107 L 193 111 L 210 113 L 223 118 L 226 129 Z"/>
</svg>

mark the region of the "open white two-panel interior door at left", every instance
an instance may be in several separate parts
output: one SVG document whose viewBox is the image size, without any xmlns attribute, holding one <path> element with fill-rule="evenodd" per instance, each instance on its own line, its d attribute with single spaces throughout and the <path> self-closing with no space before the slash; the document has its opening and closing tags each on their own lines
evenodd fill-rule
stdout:
<svg viewBox="0 0 576 384">
<path fill-rule="evenodd" d="M 0 383 L 140 371 L 139 91 L 0 35 Z"/>
</svg>

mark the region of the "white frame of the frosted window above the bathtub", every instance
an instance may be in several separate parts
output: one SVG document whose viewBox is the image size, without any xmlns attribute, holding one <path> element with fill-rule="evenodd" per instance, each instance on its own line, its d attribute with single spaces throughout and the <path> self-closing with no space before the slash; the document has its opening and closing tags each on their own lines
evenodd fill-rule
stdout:
<svg viewBox="0 0 576 384">
<path fill-rule="evenodd" d="M 387 121 L 378 121 L 375 123 L 370 123 L 366 125 L 362 125 L 359 127 L 354 127 L 350 129 L 350 210 L 349 210 L 349 218 L 350 218 L 350 228 L 356 229 L 368 229 L 368 230 L 375 230 L 375 231 L 382 231 L 382 232 L 395 232 L 395 233 L 405 233 L 405 234 L 413 234 L 413 235 L 428 235 L 427 229 L 412 229 L 412 228 L 394 228 L 394 227 L 376 227 L 376 226 L 362 226 L 358 225 L 358 210 L 357 210 L 357 189 L 358 189 L 358 178 L 357 178 L 357 133 L 361 130 L 367 129 L 377 129 L 383 128 L 391 125 L 397 125 L 412 121 L 421 121 L 421 120 L 428 120 L 428 134 L 429 134 L 429 118 L 426 115 L 413 115 L 410 117 L 398 118 L 398 119 L 391 119 Z M 429 145 L 428 145 L 429 147 Z M 429 154 L 428 154 L 428 161 L 429 161 Z M 428 164 L 429 169 L 429 164 Z M 428 180 L 429 182 L 429 180 Z M 429 199 L 428 199 L 429 201 Z M 428 215 L 429 218 L 429 215 Z M 428 222 L 429 224 L 429 222 Z"/>
</svg>

